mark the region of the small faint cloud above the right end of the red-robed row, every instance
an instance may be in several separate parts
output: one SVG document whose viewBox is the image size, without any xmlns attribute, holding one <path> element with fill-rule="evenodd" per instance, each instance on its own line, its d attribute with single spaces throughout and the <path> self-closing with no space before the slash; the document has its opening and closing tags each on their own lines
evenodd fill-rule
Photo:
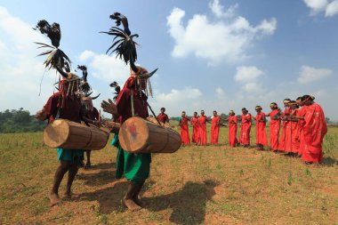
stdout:
<svg viewBox="0 0 338 225">
<path fill-rule="evenodd" d="M 300 84 L 308 84 L 326 76 L 330 76 L 331 74 L 332 70 L 328 68 L 312 68 L 309 66 L 302 66 L 297 80 Z"/>
</svg>

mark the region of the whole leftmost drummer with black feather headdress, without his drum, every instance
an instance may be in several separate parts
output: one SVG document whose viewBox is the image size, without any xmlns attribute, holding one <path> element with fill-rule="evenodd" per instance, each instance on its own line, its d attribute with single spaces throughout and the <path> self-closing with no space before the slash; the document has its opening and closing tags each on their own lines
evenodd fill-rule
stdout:
<svg viewBox="0 0 338 225">
<path fill-rule="evenodd" d="M 36 119 L 47 119 L 49 123 L 52 123 L 56 118 L 68 119 L 76 123 L 80 123 L 81 120 L 83 120 L 84 123 L 87 124 L 92 123 L 94 125 L 99 125 L 95 121 L 84 116 L 84 111 L 81 106 L 81 96 L 83 93 L 81 89 L 85 87 L 85 83 L 81 81 L 80 77 L 69 72 L 70 60 L 68 59 L 68 56 L 59 49 L 61 37 L 60 25 L 58 23 L 52 23 L 52 25 L 50 25 L 46 20 L 40 20 L 35 29 L 39 30 L 42 34 L 47 35 L 52 41 L 53 46 L 36 43 L 39 44 L 40 47 L 49 48 L 46 52 L 39 54 L 49 54 L 48 58 L 44 61 L 45 68 L 55 68 L 62 76 L 62 80 L 59 78 L 58 92 L 53 93 L 44 107 L 36 112 Z M 75 179 L 78 165 L 84 156 L 83 150 L 79 149 L 58 148 L 57 154 L 60 164 L 54 174 L 52 190 L 49 195 L 51 206 L 60 203 L 60 182 L 67 172 L 68 181 L 65 197 L 71 197 L 71 186 Z"/>
</svg>

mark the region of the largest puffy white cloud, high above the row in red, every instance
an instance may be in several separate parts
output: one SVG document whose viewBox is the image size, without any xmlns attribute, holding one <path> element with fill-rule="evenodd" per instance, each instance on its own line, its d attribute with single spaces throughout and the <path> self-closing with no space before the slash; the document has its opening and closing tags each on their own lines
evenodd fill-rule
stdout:
<svg viewBox="0 0 338 225">
<path fill-rule="evenodd" d="M 211 7 L 216 15 L 222 14 L 217 1 L 211 5 L 215 5 Z M 219 11 L 215 12 L 215 9 Z M 246 51 L 254 41 L 262 36 L 273 35 L 277 28 L 275 18 L 262 20 L 254 27 L 241 16 L 227 21 L 211 22 L 203 14 L 195 14 L 184 26 L 184 16 L 183 10 L 174 8 L 167 17 L 168 32 L 175 41 L 172 56 L 181 58 L 194 54 L 208 60 L 210 65 L 220 63 L 221 60 L 236 62 L 246 59 Z"/>
</svg>

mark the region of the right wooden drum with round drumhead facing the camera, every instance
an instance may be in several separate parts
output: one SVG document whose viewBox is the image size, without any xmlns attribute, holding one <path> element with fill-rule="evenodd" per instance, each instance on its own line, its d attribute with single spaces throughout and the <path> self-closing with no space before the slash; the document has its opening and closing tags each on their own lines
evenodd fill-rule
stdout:
<svg viewBox="0 0 338 225">
<path fill-rule="evenodd" d="M 179 133 L 141 117 L 127 119 L 118 139 L 122 149 L 133 153 L 173 153 L 181 146 Z"/>
</svg>

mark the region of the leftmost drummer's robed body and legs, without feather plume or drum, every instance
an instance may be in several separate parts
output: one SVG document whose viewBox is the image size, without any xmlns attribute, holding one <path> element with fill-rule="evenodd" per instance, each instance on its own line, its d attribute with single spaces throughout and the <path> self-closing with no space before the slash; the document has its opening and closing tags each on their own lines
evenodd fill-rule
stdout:
<svg viewBox="0 0 338 225">
<path fill-rule="evenodd" d="M 52 123 L 56 118 L 68 119 L 76 123 L 81 123 L 81 120 L 83 120 L 85 123 L 99 125 L 97 121 L 85 117 L 85 110 L 81 106 L 81 94 L 78 90 L 78 86 L 73 89 L 70 88 L 70 86 L 75 85 L 73 83 L 78 82 L 80 78 L 74 74 L 66 73 L 60 68 L 57 69 L 63 76 L 63 79 L 60 81 L 60 91 L 52 94 L 44 105 L 44 108 L 36 112 L 36 119 L 47 119 L 49 123 Z M 72 196 L 71 186 L 76 177 L 78 166 L 84 159 L 83 150 L 58 148 L 57 153 L 60 164 L 54 174 L 52 191 L 49 196 L 51 206 L 60 203 L 59 187 L 63 176 L 67 172 L 68 181 L 64 195 L 67 198 Z"/>
</svg>

